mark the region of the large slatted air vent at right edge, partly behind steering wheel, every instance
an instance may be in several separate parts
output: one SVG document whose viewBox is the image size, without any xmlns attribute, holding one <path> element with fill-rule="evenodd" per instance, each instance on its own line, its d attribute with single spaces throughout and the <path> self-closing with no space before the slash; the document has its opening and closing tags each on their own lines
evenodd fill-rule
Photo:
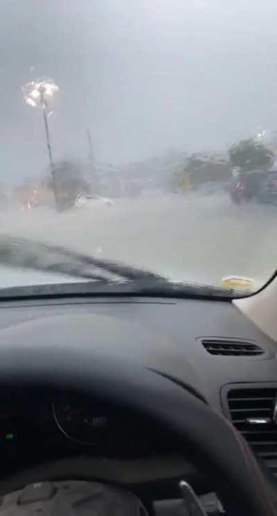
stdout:
<svg viewBox="0 0 277 516">
<path fill-rule="evenodd" d="M 274 422 L 276 400 L 277 386 L 231 389 L 227 393 L 233 425 L 277 478 L 277 425 Z"/>
</svg>

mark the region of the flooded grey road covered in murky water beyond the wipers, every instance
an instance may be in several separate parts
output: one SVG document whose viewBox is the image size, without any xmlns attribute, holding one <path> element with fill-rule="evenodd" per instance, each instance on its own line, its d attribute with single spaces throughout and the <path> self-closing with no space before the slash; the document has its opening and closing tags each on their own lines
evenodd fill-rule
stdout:
<svg viewBox="0 0 277 516">
<path fill-rule="evenodd" d="M 91 202 L 64 213 L 10 210 L 0 222 L 1 233 L 119 260 L 171 280 L 220 286 L 223 276 L 249 276 L 259 287 L 277 267 L 276 217 L 275 206 L 234 206 L 226 194 L 175 194 L 115 199 L 112 206 Z M 58 281 L 6 267 L 0 273 L 5 287 Z"/>
</svg>

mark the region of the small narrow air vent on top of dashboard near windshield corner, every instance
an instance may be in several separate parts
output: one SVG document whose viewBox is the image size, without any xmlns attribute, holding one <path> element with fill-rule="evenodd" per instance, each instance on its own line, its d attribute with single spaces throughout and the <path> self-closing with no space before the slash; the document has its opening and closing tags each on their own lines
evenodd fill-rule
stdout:
<svg viewBox="0 0 277 516">
<path fill-rule="evenodd" d="M 223 355 L 230 357 L 253 357 L 262 355 L 265 351 L 247 341 L 233 341 L 228 339 L 202 339 L 204 348 L 211 355 Z"/>
</svg>

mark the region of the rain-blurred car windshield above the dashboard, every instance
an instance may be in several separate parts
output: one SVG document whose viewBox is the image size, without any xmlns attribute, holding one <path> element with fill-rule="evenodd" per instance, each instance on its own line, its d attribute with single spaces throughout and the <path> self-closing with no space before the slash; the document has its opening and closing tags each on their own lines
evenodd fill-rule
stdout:
<svg viewBox="0 0 277 516">
<path fill-rule="evenodd" d="M 1 0 L 1 235 L 261 287 L 277 258 L 276 16 L 274 0 Z M 1 287 L 69 281 L 0 263 Z"/>
</svg>

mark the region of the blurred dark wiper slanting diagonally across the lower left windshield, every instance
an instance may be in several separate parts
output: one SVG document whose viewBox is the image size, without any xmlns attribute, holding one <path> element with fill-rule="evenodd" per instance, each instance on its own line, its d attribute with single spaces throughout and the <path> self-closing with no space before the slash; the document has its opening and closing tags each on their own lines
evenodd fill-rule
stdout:
<svg viewBox="0 0 277 516">
<path fill-rule="evenodd" d="M 129 265 L 10 235 L 0 235 L 0 265 L 107 283 L 161 278 L 158 274 Z"/>
</svg>

